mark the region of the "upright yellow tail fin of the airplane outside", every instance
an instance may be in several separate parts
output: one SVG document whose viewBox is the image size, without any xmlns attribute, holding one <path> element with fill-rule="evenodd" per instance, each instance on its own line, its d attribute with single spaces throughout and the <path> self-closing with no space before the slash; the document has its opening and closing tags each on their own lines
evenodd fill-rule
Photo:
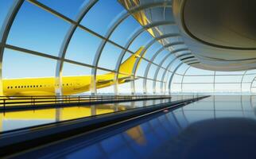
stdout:
<svg viewBox="0 0 256 159">
<path fill-rule="evenodd" d="M 134 69 L 134 65 L 136 63 L 137 58 L 140 58 L 140 60 L 138 61 L 138 65 L 137 68 L 139 66 L 139 64 L 141 63 L 141 57 L 144 56 L 145 52 L 143 52 L 142 56 L 140 55 L 143 51 L 143 46 L 141 48 L 138 48 L 138 50 L 134 53 L 134 55 L 130 56 L 127 60 L 125 60 L 119 68 L 119 72 L 123 72 L 126 74 L 131 75 Z M 136 69 L 137 69 L 136 68 Z"/>
</svg>

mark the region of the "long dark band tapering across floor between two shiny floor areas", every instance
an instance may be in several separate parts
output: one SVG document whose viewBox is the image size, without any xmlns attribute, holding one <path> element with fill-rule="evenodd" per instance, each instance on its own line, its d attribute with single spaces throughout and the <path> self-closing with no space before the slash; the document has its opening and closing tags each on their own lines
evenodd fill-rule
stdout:
<svg viewBox="0 0 256 159">
<path fill-rule="evenodd" d="M 6 156 L 25 149 L 31 149 L 38 145 L 48 144 L 49 142 L 55 142 L 91 130 L 102 129 L 106 126 L 116 125 L 120 122 L 125 122 L 133 118 L 140 118 L 165 109 L 184 106 L 204 98 L 206 97 L 179 100 L 111 114 L 101 114 L 93 117 L 45 124 L 43 126 L 32 126 L 21 130 L 2 133 L 0 134 L 0 156 Z"/>
</svg>

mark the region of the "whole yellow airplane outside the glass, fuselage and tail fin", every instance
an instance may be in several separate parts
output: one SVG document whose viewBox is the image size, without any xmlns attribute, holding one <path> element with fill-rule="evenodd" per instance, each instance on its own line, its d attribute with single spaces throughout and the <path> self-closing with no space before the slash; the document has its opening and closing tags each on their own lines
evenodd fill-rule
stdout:
<svg viewBox="0 0 256 159">
<path fill-rule="evenodd" d="M 132 79 L 132 70 L 144 47 L 124 61 L 119 68 L 118 83 L 126 83 Z M 144 56 L 143 52 L 142 56 Z M 141 60 L 139 60 L 139 63 Z M 139 64 L 138 64 L 139 65 Z M 137 69 L 137 68 L 136 68 Z M 109 87 L 114 83 L 114 72 L 96 76 L 96 87 Z M 63 95 L 75 95 L 90 91 L 91 76 L 62 77 Z M 56 79 L 54 77 L 22 78 L 2 80 L 3 94 L 6 96 L 55 95 Z"/>
</svg>

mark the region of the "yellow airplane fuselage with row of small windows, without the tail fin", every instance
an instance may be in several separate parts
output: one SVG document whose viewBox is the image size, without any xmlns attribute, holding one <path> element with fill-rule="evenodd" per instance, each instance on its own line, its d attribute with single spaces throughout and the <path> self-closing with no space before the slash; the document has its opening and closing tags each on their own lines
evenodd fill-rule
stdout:
<svg viewBox="0 0 256 159">
<path fill-rule="evenodd" d="M 97 76 L 96 87 L 111 86 L 114 83 L 113 78 L 114 74 Z M 118 80 L 118 83 L 124 82 L 125 80 Z M 60 86 L 56 84 L 54 77 L 3 80 L 3 92 L 6 96 L 55 95 L 56 87 Z M 63 95 L 90 91 L 90 87 L 91 76 L 64 76 L 62 78 Z"/>
</svg>

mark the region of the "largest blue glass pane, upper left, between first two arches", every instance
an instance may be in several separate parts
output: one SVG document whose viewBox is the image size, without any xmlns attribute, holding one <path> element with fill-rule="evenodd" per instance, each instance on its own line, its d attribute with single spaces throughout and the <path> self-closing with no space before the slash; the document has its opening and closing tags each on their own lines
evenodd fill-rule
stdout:
<svg viewBox="0 0 256 159">
<path fill-rule="evenodd" d="M 57 56 L 69 24 L 24 2 L 10 29 L 7 43 Z"/>
</svg>

